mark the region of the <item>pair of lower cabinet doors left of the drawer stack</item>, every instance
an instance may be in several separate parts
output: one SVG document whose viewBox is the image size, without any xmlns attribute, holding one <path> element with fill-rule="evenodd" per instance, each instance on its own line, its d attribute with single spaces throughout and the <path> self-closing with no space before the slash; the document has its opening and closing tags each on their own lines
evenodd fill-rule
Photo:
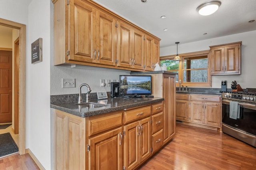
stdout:
<svg viewBox="0 0 256 170">
<path fill-rule="evenodd" d="M 132 170 L 151 155 L 150 117 L 124 126 L 124 167 Z"/>
</svg>

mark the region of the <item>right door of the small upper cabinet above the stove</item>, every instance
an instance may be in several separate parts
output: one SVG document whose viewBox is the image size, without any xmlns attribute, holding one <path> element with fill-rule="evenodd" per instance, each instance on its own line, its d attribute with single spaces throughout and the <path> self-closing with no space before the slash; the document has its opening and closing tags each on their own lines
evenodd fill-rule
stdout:
<svg viewBox="0 0 256 170">
<path fill-rule="evenodd" d="M 238 45 L 231 45 L 224 48 L 225 51 L 225 73 L 238 73 L 240 70 L 239 64 L 239 46 Z"/>
</svg>

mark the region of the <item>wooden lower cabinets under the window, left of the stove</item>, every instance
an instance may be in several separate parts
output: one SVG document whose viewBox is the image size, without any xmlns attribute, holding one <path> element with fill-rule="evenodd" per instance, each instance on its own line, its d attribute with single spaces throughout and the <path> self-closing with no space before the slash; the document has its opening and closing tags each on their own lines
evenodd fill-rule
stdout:
<svg viewBox="0 0 256 170">
<path fill-rule="evenodd" d="M 184 97 L 185 95 L 187 95 L 187 97 Z M 220 128 L 220 96 L 195 94 L 177 94 L 176 96 L 177 120 L 183 121 L 184 123 L 188 122 L 194 125 L 202 125 L 202 127 Z"/>
</svg>

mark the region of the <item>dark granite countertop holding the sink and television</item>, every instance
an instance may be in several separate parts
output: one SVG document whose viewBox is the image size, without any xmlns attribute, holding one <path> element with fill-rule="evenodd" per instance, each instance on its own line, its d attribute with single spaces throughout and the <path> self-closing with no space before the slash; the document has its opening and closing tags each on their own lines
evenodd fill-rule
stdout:
<svg viewBox="0 0 256 170">
<path fill-rule="evenodd" d="M 90 117 L 94 115 L 100 115 L 103 113 L 109 113 L 112 111 L 118 111 L 123 109 L 128 109 L 131 107 L 147 105 L 151 103 L 155 103 L 158 101 L 163 101 L 163 98 L 160 97 L 143 97 L 143 98 L 122 98 L 116 97 L 106 100 L 90 100 L 93 103 L 102 103 L 106 104 L 106 107 L 100 108 L 88 108 L 83 105 L 77 105 L 77 102 L 68 102 L 68 103 L 54 103 L 50 104 L 50 107 L 53 109 L 58 109 L 60 111 L 64 111 L 66 113 L 70 113 L 72 115 L 76 115 L 79 117 Z"/>
</svg>

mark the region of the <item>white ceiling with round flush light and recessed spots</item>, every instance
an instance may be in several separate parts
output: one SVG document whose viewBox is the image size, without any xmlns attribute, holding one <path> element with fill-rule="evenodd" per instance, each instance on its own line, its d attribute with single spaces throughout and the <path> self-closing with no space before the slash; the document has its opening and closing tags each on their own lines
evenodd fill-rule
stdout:
<svg viewBox="0 0 256 170">
<path fill-rule="evenodd" d="M 160 47 L 256 30 L 256 21 L 248 22 L 256 20 L 256 0 L 220 0 L 220 8 L 209 16 L 196 12 L 208 0 L 94 1 L 162 39 Z"/>
</svg>

